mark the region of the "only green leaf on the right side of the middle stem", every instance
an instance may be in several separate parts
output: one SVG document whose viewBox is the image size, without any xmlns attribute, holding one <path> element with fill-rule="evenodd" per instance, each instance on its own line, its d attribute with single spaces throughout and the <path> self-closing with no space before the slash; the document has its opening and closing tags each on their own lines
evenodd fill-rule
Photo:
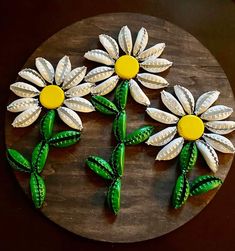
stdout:
<svg viewBox="0 0 235 251">
<path fill-rule="evenodd" d="M 146 141 L 154 131 L 153 126 L 143 126 L 132 133 L 128 134 L 125 139 L 126 145 L 137 145 Z"/>
</svg>

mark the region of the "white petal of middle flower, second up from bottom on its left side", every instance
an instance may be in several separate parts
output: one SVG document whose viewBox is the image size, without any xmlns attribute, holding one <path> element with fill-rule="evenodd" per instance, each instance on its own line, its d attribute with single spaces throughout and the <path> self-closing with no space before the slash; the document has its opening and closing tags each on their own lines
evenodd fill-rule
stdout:
<svg viewBox="0 0 235 251">
<path fill-rule="evenodd" d="M 113 68 L 107 66 L 100 66 L 89 71 L 85 77 L 85 80 L 90 83 L 96 83 L 111 77 L 113 73 Z"/>
</svg>

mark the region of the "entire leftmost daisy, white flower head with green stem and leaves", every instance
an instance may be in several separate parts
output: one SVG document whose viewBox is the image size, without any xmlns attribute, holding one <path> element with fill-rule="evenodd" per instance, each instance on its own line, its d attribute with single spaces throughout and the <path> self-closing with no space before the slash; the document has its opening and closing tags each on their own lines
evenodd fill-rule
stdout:
<svg viewBox="0 0 235 251">
<path fill-rule="evenodd" d="M 65 148 L 80 140 L 82 122 L 76 112 L 92 112 L 93 105 L 83 96 L 90 93 L 91 83 L 82 83 L 86 67 L 71 70 L 68 56 L 64 56 L 54 70 L 52 64 L 44 58 L 36 58 L 36 68 L 23 69 L 19 76 L 32 84 L 16 82 L 10 89 L 20 98 L 8 105 L 10 112 L 20 112 L 12 125 L 26 127 L 39 117 L 42 107 L 46 114 L 40 121 L 40 142 L 36 144 L 31 161 L 18 150 L 8 148 L 7 160 L 10 166 L 29 175 L 31 198 L 36 208 L 41 208 L 46 199 L 46 183 L 42 172 L 51 148 Z M 39 90 L 38 88 L 42 88 Z M 75 130 L 54 131 L 55 116 L 58 113 L 62 121 Z"/>
</svg>

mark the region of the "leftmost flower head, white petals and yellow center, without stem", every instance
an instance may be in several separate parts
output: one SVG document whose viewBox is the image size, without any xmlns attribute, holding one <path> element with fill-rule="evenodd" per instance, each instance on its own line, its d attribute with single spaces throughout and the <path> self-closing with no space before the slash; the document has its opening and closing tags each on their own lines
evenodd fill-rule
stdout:
<svg viewBox="0 0 235 251">
<path fill-rule="evenodd" d="M 82 83 L 86 67 L 71 70 L 68 56 L 64 56 L 58 62 L 56 70 L 49 61 L 41 57 L 36 58 L 35 64 L 38 72 L 26 68 L 19 72 L 19 76 L 41 87 L 42 90 L 25 82 L 16 82 L 10 86 L 10 89 L 21 97 L 7 107 L 10 112 L 20 112 L 12 125 L 31 125 L 44 107 L 49 110 L 56 109 L 65 124 L 73 129 L 82 130 L 82 121 L 76 112 L 95 110 L 88 100 L 82 98 L 90 93 L 93 86 L 92 83 Z"/>
</svg>

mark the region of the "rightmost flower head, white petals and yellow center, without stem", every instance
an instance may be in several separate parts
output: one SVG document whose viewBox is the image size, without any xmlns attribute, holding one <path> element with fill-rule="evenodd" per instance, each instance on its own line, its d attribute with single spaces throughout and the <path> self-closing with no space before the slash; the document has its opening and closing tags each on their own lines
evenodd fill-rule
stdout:
<svg viewBox="0 0 235 251">
<path fill-rule="evenodd" d="M 171 113 L 147 108 L 147 114 L 154 120 L 173 126 L 154 134 L 146 143 L 153 146 L 166 145 L 157 154 L 156 160 L 170 160 L 181 152 L 185 141 L 195 141 L 207 165 L 216 172 L 219 162 L 215 150 L 235 152 L 232 142 L 222 136 L 235 129 L 234 121 L 224 120 L 232 114 L 233 109 L 224 105 L 212 106 L 219 97 L 218 91 L 202 94 L 196 103 L 188 89 L 176 85 L 174 92 L 179 101 L 171 93 L 161 92 L 162 102 Z M 205 133 L 205 128 L 212 133 Z M 179 137 L 173 139 L 177 133 Z"/>
</svg>

